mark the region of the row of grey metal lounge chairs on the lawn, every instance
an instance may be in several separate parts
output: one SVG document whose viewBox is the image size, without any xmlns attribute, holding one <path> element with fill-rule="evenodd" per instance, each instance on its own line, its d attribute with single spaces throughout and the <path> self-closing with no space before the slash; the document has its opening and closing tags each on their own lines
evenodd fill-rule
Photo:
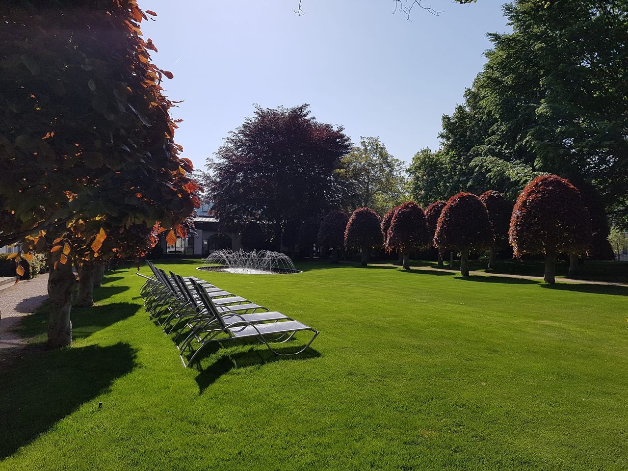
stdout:
<svg viewBox="0 0 628 471">
<path fill-rule="evenodd" d="M 269 311 L 242 296 L 221 290 L 194 276 L 182 277 L 148 262 L 152 276 L 137 273 L 146 281 L 139 292 L 149 316 L 167 334 L 176 333 L 175 344 L 183 366 L 188 367 L 205 345 L 214 342 L 258 338 L 277 355 L 297 355 L 307 349 L 318 331 L 280 312 Z M 309 330 L 313 336 L 305 347 L 284 353 L 271 343 L 288 342 L 296 332 Z M 191 352 L 188 360 L 184 355 Z"/>
</svg>

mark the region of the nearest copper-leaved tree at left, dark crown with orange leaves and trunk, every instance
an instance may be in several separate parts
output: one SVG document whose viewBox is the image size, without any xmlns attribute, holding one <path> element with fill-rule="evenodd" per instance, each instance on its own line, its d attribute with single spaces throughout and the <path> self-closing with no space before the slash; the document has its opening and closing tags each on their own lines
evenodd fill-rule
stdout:
<svg viewBox="0 0 628 471">
<path fill-rule="evenodd" d="M 159 221 L 176 240 L 198 187 L 135 0 L 16 1 L 0 15 L 0 246 L 51 251 L 58 347 L 72 339 L 72 264 L 97 259 L 120 227 Z"/>
</svg>

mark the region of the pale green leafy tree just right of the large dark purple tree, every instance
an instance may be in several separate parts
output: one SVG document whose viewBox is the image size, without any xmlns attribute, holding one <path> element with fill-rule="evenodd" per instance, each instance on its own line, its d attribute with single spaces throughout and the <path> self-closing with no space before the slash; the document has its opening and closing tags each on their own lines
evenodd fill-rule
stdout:
<svg viewBox="0 0 628 471">
<path fill-rule="evenodd" d="M 390 207 L 409 199 L 403 162 L 386 150 L 379 138 L 360 138 L 336 170 L 347 190 L 345 204 L 353 210 L 373 208 L 383 215 Z"/>
</svg>

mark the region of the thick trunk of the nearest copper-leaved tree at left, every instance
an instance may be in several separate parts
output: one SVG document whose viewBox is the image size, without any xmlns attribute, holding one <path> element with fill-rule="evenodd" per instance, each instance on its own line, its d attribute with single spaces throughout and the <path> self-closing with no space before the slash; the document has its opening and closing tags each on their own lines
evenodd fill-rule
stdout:
<svg viewBox="0 0 628 471">
<path fill-rule="evenodd" d="M 55 257 L 58 258 L 58 257 Z M 72 264 L 57 263 L 50 269 L 48 277 L 48 296 L 50 296 L 50 320 L 48 320 L 48 347 L 56 349 L 72 342 L 72 290 L 76 278 L 72 273 Z"/>
</svg>

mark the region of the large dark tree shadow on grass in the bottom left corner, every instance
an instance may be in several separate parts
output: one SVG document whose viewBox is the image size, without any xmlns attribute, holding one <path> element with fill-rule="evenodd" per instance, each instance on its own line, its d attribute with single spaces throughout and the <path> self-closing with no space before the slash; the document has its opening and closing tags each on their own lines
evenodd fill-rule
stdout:
<svg viewBox="0 0 628 471">
<path fill-rule="evenodd" d="M 128 344 L 41 350 L 4 367 L 0 382 L 0 461 L 13 455 L 72 414 L 106 393 L 131 372 L 136 352 Z M 96 413 L 97 406 L 94 406 Z"/>
</svg>

